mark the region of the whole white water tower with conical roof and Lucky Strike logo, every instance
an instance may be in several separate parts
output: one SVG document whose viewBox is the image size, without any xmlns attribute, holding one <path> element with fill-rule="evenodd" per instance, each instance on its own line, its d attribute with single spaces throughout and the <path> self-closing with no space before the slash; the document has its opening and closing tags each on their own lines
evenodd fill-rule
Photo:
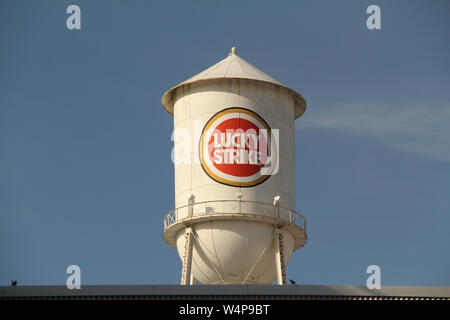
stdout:
<svg viewBox="0 0 450 320">
<path fill-rule="evenodd" d="M 181 257 L 181 284 L 285 284 L 306 242 L 294 210 L 303 97 L 232 48 L 164 93 L 162 105 L 175 129 L 175 209 L 164 239 Z"/>
</svg>

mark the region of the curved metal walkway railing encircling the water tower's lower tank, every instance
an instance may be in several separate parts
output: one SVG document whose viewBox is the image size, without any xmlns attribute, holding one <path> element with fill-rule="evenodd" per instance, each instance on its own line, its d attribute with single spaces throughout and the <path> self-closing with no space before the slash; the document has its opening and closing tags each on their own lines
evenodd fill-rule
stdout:
<svg viewBox="0 0 450 320">
<path fill-rule="evenodd" d="M 246 200 L 212 200 L 178 207 L 164 217 L 164 229 L 177 221 L 211 214 L 254 214 L 285 220 L 306 231 L 306 219 L 295 210 L 271 203 Z"/>
</svg>

